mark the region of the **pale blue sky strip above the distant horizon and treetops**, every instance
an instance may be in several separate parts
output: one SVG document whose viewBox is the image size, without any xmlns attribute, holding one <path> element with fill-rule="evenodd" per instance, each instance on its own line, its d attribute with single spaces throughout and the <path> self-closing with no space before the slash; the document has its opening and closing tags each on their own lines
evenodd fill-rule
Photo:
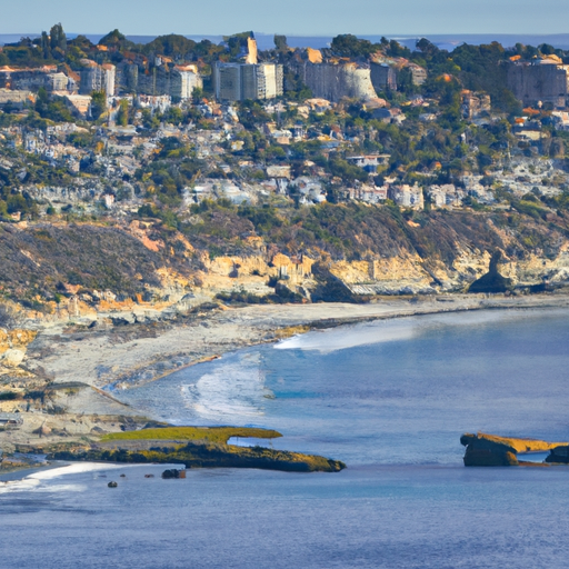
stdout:
<svg viewBox="0 0 569 569">
<path fill-rule="evenodd" d="M 567 33 L 569 0 L 18 0 L 3 2 L 0 33 L 61 22 L 68 32 L 290 36 Z"/>
</svg>

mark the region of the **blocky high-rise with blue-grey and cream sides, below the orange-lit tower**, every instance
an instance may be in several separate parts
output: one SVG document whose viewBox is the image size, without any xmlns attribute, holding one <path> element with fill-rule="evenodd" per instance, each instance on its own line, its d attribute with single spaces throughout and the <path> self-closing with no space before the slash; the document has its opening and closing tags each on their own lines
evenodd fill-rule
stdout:
<svg viewBox="0 0 569 569">
<path fill-rule="evenodd" d="M 274 99 L 282 94 L 282 66 L 274 63 L 216 63 L 213 88 L 219 101 Z"/>
</svg>

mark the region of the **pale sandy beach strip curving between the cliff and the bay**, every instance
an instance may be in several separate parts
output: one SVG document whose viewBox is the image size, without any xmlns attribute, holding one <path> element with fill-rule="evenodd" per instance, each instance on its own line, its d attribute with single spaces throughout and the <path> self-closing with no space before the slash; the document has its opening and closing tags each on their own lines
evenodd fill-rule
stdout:
<svg viewBox="0 0 569 569">
<path fill-rule="evenodd" d="M 81 382 L 102 389 L 133 387 L 248 346 L 315 328 L 416 315 L 483 309 L 569 307 L 569 296 L 448 296 L 387 299 L 376 303 L 264 305 L 198 313 L 149 333 L 147 327 L 102 332 L 47 330 L 28 350 L 27 367 L 56 383 Z"/>
</svg>

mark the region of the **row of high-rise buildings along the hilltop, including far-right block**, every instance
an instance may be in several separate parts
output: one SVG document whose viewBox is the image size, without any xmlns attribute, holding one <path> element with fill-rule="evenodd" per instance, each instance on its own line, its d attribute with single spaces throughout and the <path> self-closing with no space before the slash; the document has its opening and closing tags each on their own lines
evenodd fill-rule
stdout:
<svg viewBox="0 0 569 569">
<path fill-rule="evenodd" d="M 203 88 L 198 63 L 179 64 L 166 56 L 148 58 L 134 52 L 122 56 L 123 60 L 117 66 L 83 59 L 74 70 L 67 64 L 0 68 L 0 106 L 9 103 L 21 108 L 41 88 L 64 97 L 77 112 L 88 104 L 88 100 L 77 97 L 89 97 L 93 91 L 103 91 L 108 97 L 170 97 L 177 102 L 190 99 L 196 89 Z M 555 54 L 531 61 L 523 61 L 519 56 L 510 59 L 506 63 L 507 84 L 525 106 L 567 107 L 569 64 Z M 426 69 L 417 63 L 381 54 L 367 62 L 348 58 L 325 60 L 320 50 L 307 48 L 296 50 L 288 67 L 315 98 L 331 102 L 343 97 L 372 101 L 378 93 L 397 91 L 402 83 L 421 86 L 427 80 Z M 252 38 L 248 39 L 247 53 L 240 62 L 216 62 L 207 80 L 217 100 L 229 102 L 270 100 L 282 96 L 286 87 L 283 67 L 260 62 Z M 475 118 L 485 110 L 489 110 L 489 98 L 485 93 L 471 93 L 463 100 L 462 112 L 467 118 Z"/>
</svg>

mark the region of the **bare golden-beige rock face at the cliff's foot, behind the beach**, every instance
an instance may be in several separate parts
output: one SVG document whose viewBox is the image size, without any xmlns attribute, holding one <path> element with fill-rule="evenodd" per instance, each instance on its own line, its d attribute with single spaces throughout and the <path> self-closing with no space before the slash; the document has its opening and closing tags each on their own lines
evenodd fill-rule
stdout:
<svg viewBox="0 0 569 569">
<path fill-rule="evenodd" d="M 505 253 L 502 251 L 502 253 Z M 289 286 L 310 288 L 315 259 L 292 259 L 277 253 L 250 257 L 218 257 L 204 259 L 206 271 L 200 273 L 202 290 L 211 296 L 220 291 L 243 289 L 257 295 L 268 295 L 266 284 L 271 277 L 280 277 Z M 430 259 L 426 262 L 418 254 L 372 258 L 365 261 L 336 261 L 327 263 L 330 272 L 357 295 L 465 291 L 469 283 L 488 271 L 489 251 L 461 249 L 452 266 Z M 515 284 L 569 282 L 569 243 L 563 244 L 555 259 L 530 254 L 521 261 L 503 254 L 500 273 Z"/>
</svg>

